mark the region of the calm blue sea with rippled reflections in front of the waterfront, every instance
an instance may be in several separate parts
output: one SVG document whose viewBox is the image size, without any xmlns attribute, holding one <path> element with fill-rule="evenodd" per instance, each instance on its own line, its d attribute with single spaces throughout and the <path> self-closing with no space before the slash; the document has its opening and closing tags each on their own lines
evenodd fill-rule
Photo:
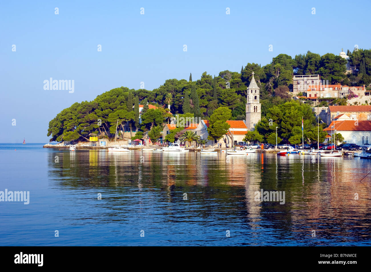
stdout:
<svg viewBox="0 0 371 272">
<path fill-rule="evenodd" d="M 0 144 L 0 191 L 30 192 L 0 202 L 0 246 L 371 245 L 371 160 L 42 145 Z"/>
</svg>

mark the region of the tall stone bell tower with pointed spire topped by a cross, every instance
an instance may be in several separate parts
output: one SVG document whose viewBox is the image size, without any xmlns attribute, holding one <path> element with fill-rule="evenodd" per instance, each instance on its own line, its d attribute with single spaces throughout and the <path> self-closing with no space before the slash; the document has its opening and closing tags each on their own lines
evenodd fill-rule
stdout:
<svg viewBox="0 0 371 272">
<path fill-rule="evenodd" d="M 246 103 L 246 126 L 249 131 L 253 131 L 257 122 L 260 121 L 261 105 L 259 102 L 259 87 L 257 86 L 252 72 L 252 79 L 247 88 L 247 103 Z"/>
</svg>

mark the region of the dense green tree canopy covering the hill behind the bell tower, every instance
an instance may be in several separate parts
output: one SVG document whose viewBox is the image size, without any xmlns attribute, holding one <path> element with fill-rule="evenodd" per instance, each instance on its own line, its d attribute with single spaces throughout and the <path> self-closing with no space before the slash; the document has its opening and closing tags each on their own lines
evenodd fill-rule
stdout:
<svg viewBox="0 0 371 272">
<path fill-rule="evenodd" d="M 348 50 L 347 55 L 350 65 L 354 65 L 354 73 L 345 73 L 347 60 L 338 55 L 327 53 L 321 56 L 308 51 L 294 58 L 279 54 L 265 66 L 247 63 L 240 72 L 225 70 L 217 76 L 204 72 L 196 81 L 192 81 L 191 75 L 189 81 L 167 79 L 152 91 L 115 88 L 98 95 L 93 101 L 76 102 L 63 109 L 49 122 L 47 135 L 51 135 L 50 141 L 88 140 L 90 133 L 112 136 L 115 130 L 112 126 L 118 119 L 121 130 L 125 124 L 136 131 L 151 130 L 153 126 L 169 121 L 171 115 L 164 110 L 167 105 L 170 105 L 172 114 L 187 112 L 205 119 L 222 106 L 231 111 L 230 119 L 244 119 L 246 88 L 252 79 L 252 72 L 260 88 L 262 116 L 275 117 L 272 111 L 281 109 L 280 105 L 291 100 L 288 90 L 292 88 L 292 76 L 295 74 L 320 73 L 321 78 L 328 79 L 330 84 L 368 86 L 371 83 L 371 50 Z M 344 104 L 344 101 L 338 102 Z M 144 105 L 142 124 L 139 124 L 139 103 Z M 158 111 L 150 111 L 148 103 L 157 105 Z M 271 130 L 264 132 L 268 133 L 266 140 L 273 133 Z M 283 131 L 281 135 L 284 140 L 293 137 Z"/>
</svg>

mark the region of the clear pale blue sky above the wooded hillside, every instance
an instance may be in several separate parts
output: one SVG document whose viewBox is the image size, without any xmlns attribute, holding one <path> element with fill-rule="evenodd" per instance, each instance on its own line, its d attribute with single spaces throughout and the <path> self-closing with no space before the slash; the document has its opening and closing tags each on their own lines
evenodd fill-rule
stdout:
<svg viewBox="0 0 371 272">
<path fill-rule="evenodd" d="M 116 87 L 139 89 L 144 82 L 152 90 L 190 72 L 193 80 L 204 71 L 239 72 L 280 53 L 369 49 L 370 23 L 361 11 L 370 7 L 370 1 L 1 1 L 0 142 L 47 142 L 58 112 Z M 74 92 L 44 90 L 49 78 L 74 80 Z"/>
</svg>

